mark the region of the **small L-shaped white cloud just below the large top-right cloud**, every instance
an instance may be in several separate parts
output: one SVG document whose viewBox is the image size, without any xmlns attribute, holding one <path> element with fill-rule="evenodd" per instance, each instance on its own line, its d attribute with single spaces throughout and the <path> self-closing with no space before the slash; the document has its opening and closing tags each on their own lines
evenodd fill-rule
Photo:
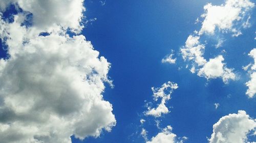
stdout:
<svg viewBox="0 0 256 143">
<path fill-rule="evenodd" d="M 199 36 L 188 36 L 186 44 L 181 48 L 182 58 L 184 61 L 192 61 L 193 67 L 190 69 L 192 73 L 197 72 L 199 76 L 207 79 L 221 77 L 224 83 L 228 80 L 234 80 L 236 75 L 223 63 L 222 55 L 208 62 L 204 59 L 203 53 L 205 46 L 200 43 Z"/>
</svg>

